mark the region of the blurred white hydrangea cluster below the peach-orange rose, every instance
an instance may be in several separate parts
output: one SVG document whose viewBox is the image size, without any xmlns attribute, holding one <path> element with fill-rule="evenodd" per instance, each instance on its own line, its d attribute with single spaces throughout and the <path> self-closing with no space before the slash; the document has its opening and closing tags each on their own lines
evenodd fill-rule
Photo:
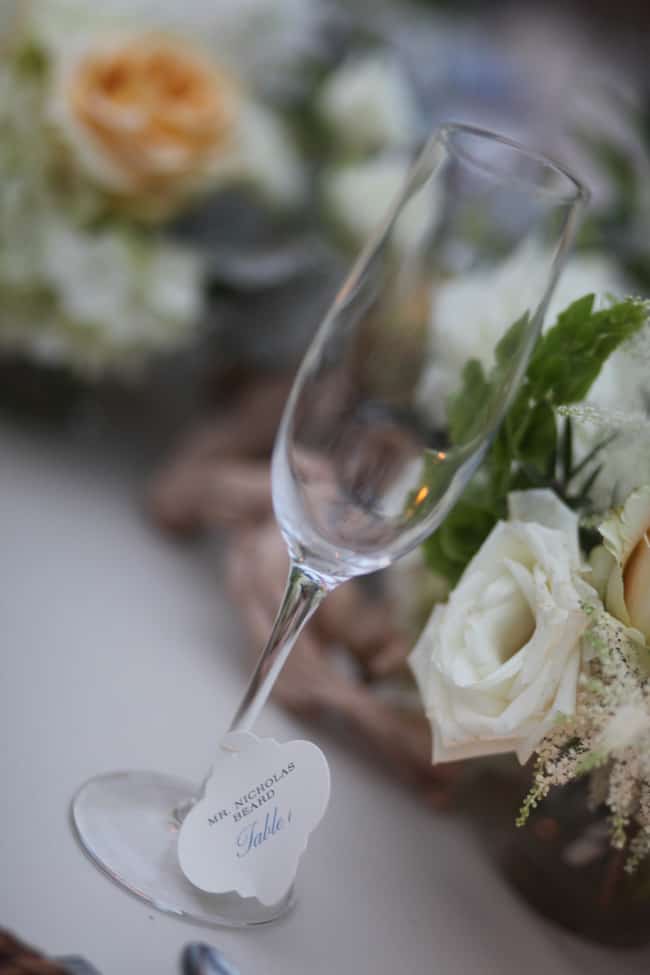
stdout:
<svg viewBox="0 0 650 975">
<path fill-rule="evenodd" d="M 132 371 L 186 341 L 198 320 L 199 261 L 172 244 L 50 216 L 39 256 L 27 295 L 5 292 L 2 348 L 87 376 Z"/>
</svg>

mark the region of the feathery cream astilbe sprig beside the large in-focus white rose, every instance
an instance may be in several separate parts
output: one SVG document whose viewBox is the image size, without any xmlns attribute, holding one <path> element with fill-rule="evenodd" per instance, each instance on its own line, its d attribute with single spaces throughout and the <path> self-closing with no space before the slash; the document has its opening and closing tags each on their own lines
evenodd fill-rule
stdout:
<svg viewBox="0 0 650 975">
<path fill-rule="evenodd" d="M 632 871 L 650 854 L 650 680 L 634 631 L 584 608 L 591 622 L 576 710 L 540 743 L 518 825 L 553 786 L 590 775 L 591 804 L 606 805 L 612 845 L 627 849 Z"/>
</svg>

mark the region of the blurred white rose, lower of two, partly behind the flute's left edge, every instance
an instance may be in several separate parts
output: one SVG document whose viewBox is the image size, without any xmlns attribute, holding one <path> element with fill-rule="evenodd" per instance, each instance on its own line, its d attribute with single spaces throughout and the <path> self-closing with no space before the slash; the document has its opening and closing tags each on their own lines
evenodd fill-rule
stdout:
<svg viewBox="0 0 650 975">
<path fill-rule="evenodd" d="M 406 185 L 410 166 L 408 157 L 386 153 L 336 166 L 324 174 L 325 206 L 356 244 L 364 243 L 386 219 L 391 204 Z M 430 186 L 406 204 L 393 231 L 398 250 L 417 245 L 433 227 L 437 210 Z"/>
</svg>

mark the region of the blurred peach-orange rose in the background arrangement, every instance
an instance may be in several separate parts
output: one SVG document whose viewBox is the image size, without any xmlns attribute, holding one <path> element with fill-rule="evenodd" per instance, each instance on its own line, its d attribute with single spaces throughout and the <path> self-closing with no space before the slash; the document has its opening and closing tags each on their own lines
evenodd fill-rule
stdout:
<svg viewBox="0 0 650 975">
<path fill-rule="evenodd" d="M 66 51 L 49 114 L 88 178 L 166 212 L 229 160 L 239 102 L 235 80 L 196 48 L 145 33 Z"/>
</svg>

